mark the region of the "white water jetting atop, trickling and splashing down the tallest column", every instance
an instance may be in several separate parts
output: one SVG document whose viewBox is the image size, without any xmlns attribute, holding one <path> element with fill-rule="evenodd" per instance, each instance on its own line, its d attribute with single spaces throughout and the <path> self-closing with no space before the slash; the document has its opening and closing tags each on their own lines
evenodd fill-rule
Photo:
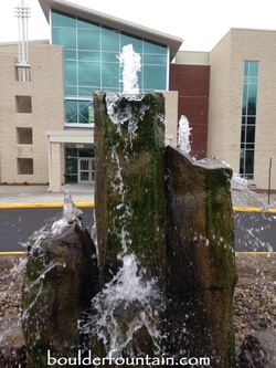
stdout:
<svg viewBox="0 0 276 368">
<path fill-rule="evenodd" d="M 134 52 L 131 44 L 123 49 L 119 61 L 124 66 L 124 93 L 107 92 L 106 106 L 109 119 L 116 126 L 118 135 L 121 136 L 124 132 L 126 147 L 123 157 L 118 151 L 118 145 L 114 145 L 110 151 L 114 165 L 112 189 L 118 198 L 116 209 L 119 215 L 115 235 L 118 236 L 121 246 L 117 259 L 121 262 L 121 266 L 113 280 L 107 282 L 93 298 L 93 315 L 84 316 L 81 328 L 97 340 L 102 340 L 106 354 L 116 350 L 118 356 L 126 351 L 127 356 L 134 356 L 134 339 L 136 333 L 140 330 L 150 336 L 155 351 L 161 353 L 161 335 L 156 320 L 159 319 L 156 309 L 157 307 L 159 311 L 161 309 L 162 301 L 157 280 L 149 280 L 146 269 L 140 266 L 137 255 L 129 252 L 132 239 L 127 231 L 127 224 L 134 212 L 126 196 L 121 168 L 125 162 L 129 161 L 128 151 L 132 149 L 138 124 L 150 107 L 142 103 L 144 94 L 139 93 L 137 72 L 141 67 L 140 55 Z M 126 104 L 125 101 L 132 101 L 134 104 Z M 123 130 L 123 125 L 124 128 L 127 128 L 128 134 Z M 140 353 L 142 354 L 142 351 Z"/>
</svg>

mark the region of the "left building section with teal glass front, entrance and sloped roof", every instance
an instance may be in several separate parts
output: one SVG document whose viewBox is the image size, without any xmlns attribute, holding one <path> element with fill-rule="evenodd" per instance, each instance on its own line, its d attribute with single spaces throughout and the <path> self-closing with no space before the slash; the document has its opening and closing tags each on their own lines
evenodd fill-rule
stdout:
<svg viewBox="0 0 276 368">
<path fill-rule="evenodd" d="M 118 55 L 127 44 L 141 56 L 140 92 L 166 96 L 166 138 L 176 144 L 178 93 L 168 88 L 169 64 L 182 40 L 63 0 L 40 4 L 50 42 L 28 43 L 26 67 L 15 43 L 0 46 L 1 182 L 49 182 L 61 191 L 64 182 L 94 180 L 93 93 L 121 92 Z"/>
</svg>

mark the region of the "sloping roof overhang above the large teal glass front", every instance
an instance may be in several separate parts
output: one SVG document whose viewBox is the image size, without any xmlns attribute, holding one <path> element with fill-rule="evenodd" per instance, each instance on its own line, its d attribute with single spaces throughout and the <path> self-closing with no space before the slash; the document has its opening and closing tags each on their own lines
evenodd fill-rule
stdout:
<svg viewBox="0 0 276 368">
<path fill-rule="evenodd" d="M 74 4 L 64 0 L 39 0 L 40 6 L 45 14 L 45 18 L 49 22 L 50 9 L 55 9 L 59 11 L 63 11 L 65 13 L 81 17 L 93 22 L 97 22 L 104 24 L 106 27 L 110 27 L 116 30 L 120 30 L 126 33 L 134 34 L 136 36 L 140 36 L 147 39 L 149 41 L 153 41 L 157 43 L 166 44 L 170 50 L 170 61 L 174 59 L 177 52 L 179 51 L 183 40 L 181 38 L 177 38 L 157 30 L 152 30 L 150 28 L 146 28 L 119 18 L 115 18 L 99 11 L 85 8 L 78 4 Z"/>
</svg>

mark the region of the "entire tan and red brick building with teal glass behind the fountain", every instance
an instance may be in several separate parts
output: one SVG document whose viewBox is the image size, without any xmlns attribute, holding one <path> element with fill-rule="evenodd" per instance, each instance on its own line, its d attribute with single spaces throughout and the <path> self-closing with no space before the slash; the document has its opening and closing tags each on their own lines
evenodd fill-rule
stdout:
<svg viewBox="0 0 276 368">
<path fill-rule="evenodd" d="M 63 0 L 40 0 L 50 41 L 29 42 L 26 80 L 17 43 L 0 45 L 0 181 L 94 180 L 95 91 L 121 92 L 118 55 L 141 56 L 140 92 L 166 97 L 166 143 L 190 122 L 192 156 L 215 157 L 257 189 L 276 189 L 276 31 L 232 29 L 211 52 L 179 51 L 182 40 Z M 270 166 L 270 168 L 269 168 Z"/>
</svg>

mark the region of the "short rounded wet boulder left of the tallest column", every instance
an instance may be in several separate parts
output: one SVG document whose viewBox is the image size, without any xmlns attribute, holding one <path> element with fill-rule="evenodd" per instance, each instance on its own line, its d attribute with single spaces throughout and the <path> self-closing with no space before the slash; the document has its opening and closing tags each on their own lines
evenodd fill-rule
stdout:
<svg viewBox="0 0 276 368">
<path fill-rule="evenodd" d="M 78 221 L 30 244 L 22 294 L 28 367 L 45 367 L 49 350 L 53 356 L 77 356 L 85 348 L 78 324 L 97 293 L 95 252 Z"/>
</svg>

